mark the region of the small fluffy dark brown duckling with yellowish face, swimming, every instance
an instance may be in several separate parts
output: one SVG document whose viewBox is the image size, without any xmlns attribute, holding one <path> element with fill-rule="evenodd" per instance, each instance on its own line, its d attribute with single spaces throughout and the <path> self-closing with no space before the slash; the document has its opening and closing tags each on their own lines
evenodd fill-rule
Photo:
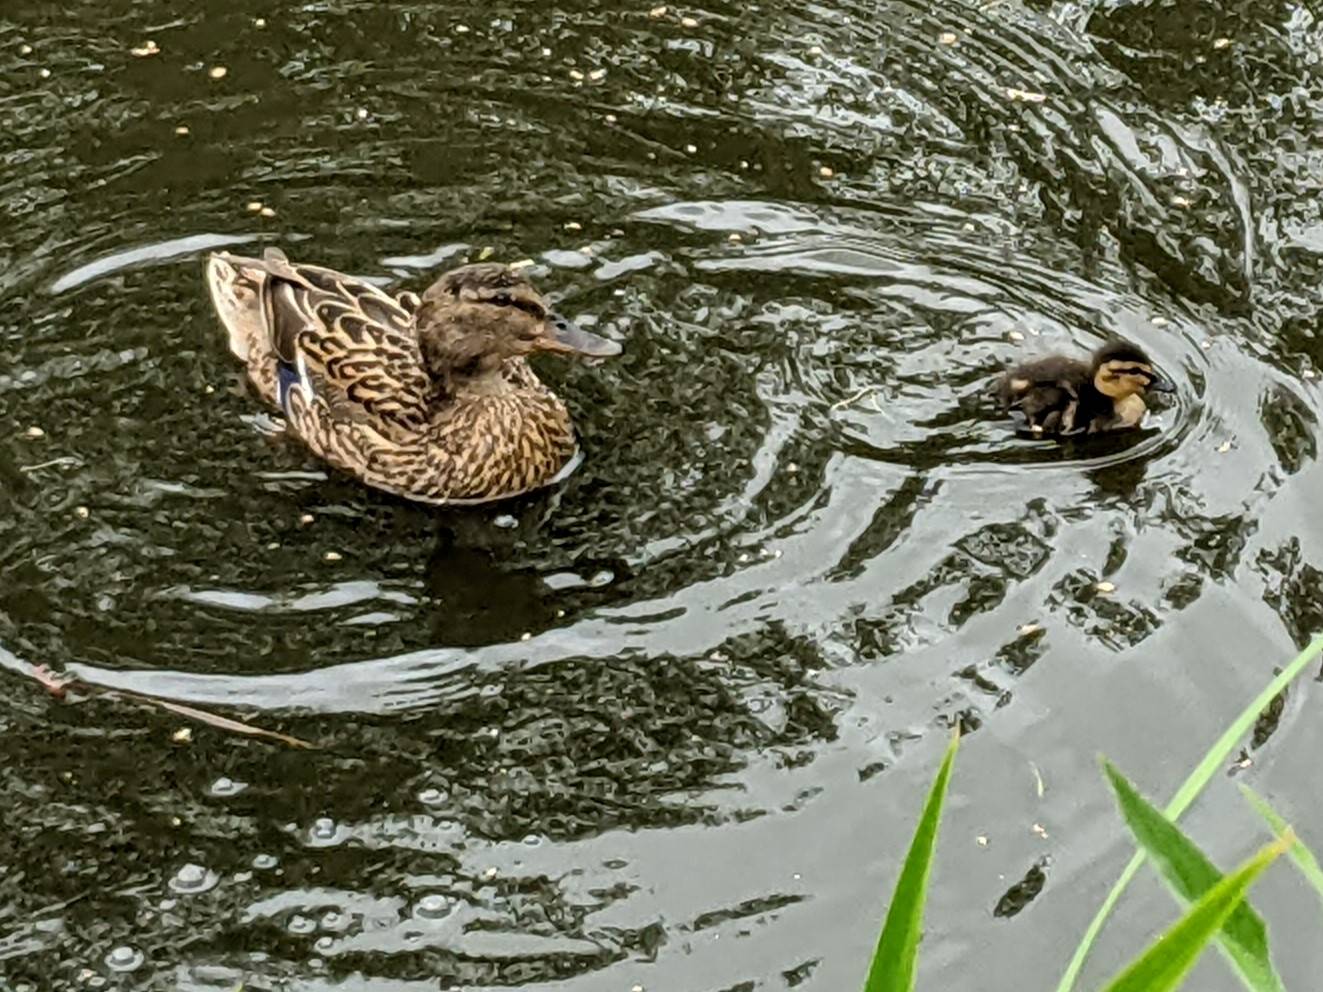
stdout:
<svg viewBox="0 0 1323 992">
<path fill-rule="evenodd" d="M 1105 344 L 1089 362 L 1052 354 L 1007 372 L 998 394 L 1003 409 L 1024 417 L 1035 434 L 1077 434 L 1139 426 L 1146 393 L 1175 393 L 1143 349 Z"/>
</svg>

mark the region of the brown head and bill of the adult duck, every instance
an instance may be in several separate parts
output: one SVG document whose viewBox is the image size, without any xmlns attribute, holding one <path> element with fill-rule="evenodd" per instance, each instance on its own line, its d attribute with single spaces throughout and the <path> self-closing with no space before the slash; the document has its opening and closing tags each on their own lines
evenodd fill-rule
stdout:
<svg viewBox="0 0 1323 992">
<path fill-rule="evenodd" d="M 423 361 L 434 376 L 482 376 L 534 352 L 606 358 L 620 345 L 556 313 L 516 270 L 496 263 L 446 272 L 415 315 Z"/>
</svg>

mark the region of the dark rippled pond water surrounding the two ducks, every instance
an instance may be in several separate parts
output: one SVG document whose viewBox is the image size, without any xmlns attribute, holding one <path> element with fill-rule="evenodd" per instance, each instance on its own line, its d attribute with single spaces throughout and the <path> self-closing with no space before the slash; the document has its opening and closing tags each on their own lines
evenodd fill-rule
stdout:
<svg viewBox="0 0 1323 992">
<path fill-rule="evenodd" d="M 1320 46 L 1274 0 L 5 0 L 0 988 L 857 988 L 957 722 L 923 988 L 1052 987 L 1129 856 L 1097 753 L 1171 792 L 1323 619 Z M 267 243 L 534 259 L 626 348 L 544 368 L 582 468 L 437 513 L 273 435 L 201 283 Z M 980 406 L 1110 335 L 1180 384 L 1151 430 Z M 1316 701 L 1238 778 L 1323 845 Z M 1189 825 L 1259 836 L 1225 779 Z M 1316 901 L 1258 905 L 1311 988 Z M 1171 917 L 1146 878 L 1090 987 Z"/>
</svg>

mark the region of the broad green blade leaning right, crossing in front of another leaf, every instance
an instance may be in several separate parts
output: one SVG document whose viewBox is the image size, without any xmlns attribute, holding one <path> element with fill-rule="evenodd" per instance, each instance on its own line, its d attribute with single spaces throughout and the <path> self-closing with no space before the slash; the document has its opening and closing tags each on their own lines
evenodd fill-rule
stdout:
<svg viewBox="0 0 1323 992">
<path fill-rule="evenodd" d="M 1171 930 L 1113 979 L 1105 992 L 1172 992 L 1177 988 L 1208 942 L 1241 905 L 1249 886 L 1293 843 L 1290 835 L 1275 840 L 1217 882 Z"/>
</svg>

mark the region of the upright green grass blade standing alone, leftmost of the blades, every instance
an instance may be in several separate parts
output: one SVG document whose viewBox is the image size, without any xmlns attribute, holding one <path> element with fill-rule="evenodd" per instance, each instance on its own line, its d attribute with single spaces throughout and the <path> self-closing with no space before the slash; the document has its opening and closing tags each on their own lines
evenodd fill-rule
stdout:
<svg viewBox="0 0 1323 992">
<path fill-rule="evenodd" d="M 892 893 L 886 922 L 877 938 L 877 950 L 873 951 L 873 963 L 868 968 L 864 992 L 912 992 L 914 988 L 918 942 L 923 936 L 927 877 L 933 868 L 937 831 L 942 823 L 946 786 L 951 780 L 951 767 L 955 765 L 955 751 L 959 745 L 959 734 L 953 735 L 946 757 L 942 758 L 942 767 L 933 779 L 923 815 L 914 828 L 914 840 L 910 841 L 900 878 L 896 880 L 896 891 Z"/>
</svg>

